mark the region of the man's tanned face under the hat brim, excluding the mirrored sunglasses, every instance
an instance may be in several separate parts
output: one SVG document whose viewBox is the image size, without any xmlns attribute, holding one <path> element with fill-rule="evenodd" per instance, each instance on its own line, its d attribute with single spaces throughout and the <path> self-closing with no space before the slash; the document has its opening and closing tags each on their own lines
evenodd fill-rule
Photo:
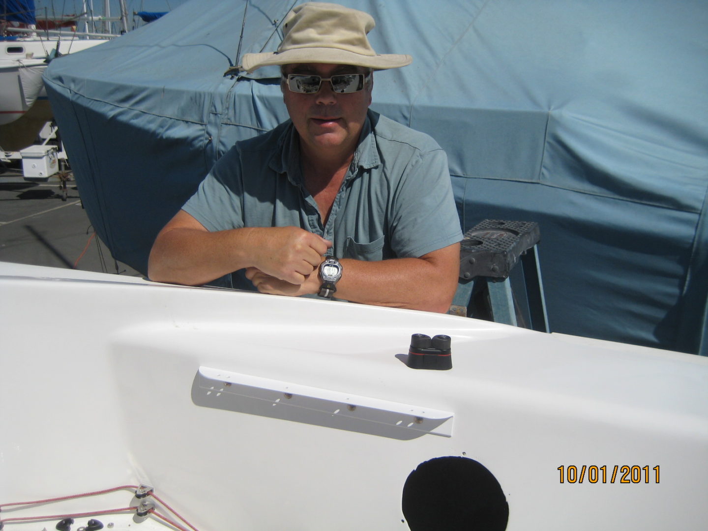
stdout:
<svg viewBox="0 0 708 531">
<path fill-rule="evenodd" d="M 369 70 L 349 64 L 307 63 L 287 64 L 282 73 L 329 78 L 337 74 L 368 74 Z M 287 112 L 305 149 L 353 153 L 371 104 L 372 85 L 371 80 L 361 91 L 348 94 L 333 92 L 329 81 L 322 81 L 314 94 L 292 92 L 281 85 Z"/>
</svg>

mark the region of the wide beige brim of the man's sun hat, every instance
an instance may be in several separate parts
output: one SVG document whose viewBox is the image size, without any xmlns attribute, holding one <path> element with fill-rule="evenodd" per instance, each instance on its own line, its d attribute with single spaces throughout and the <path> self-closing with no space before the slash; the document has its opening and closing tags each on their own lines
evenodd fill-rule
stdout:
<svg viewBox="0 0 708 531">
<path fill-rule="evenodd" d="M 355 67 L 366 67 L 375 70 L 405 67 L 413 62 L 410 55 L 382 54 L 361 55 L 337 48 L 297 48 L 285 52 L 268 52 L 258 54 L 244 54 L 241 59 L 241 69 L 246 72 L 273 64 L 295 63 L 326 63 L 326 64 L 353 64 Z"/>
</svg>

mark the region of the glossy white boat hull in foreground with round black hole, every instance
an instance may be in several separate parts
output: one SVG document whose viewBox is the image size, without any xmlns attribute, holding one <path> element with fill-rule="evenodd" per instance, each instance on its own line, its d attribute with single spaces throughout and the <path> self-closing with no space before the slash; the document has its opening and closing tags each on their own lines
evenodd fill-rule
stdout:
<svg viewBox="0 0 708 531">
<path fill-rule="evenodd" d="M 708 521 L 704 358 L 8 263 L 0 292 L 0 504 L 143 482 L 200 531 L 404 530 L 406 478 L 455 456 L 496 477 L 508 530 Z M 406 367 L 413 333 L 452 336 L 452 370 Z M 582 484 L 569 465 L 586 465 Z M 639 481 L 611 481 L 615 465 Z"/>
</svg>

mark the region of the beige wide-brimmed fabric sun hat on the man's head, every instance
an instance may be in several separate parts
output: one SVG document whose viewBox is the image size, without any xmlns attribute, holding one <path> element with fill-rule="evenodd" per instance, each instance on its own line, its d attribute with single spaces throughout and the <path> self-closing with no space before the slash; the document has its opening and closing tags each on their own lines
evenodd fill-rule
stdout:
<svg viewBox="0 0 708 531">
<path fill-rule="evenodd" d="M 385 70 L 411 64 L 410 55 L 374 51 L 366 35 L 375 25 L 364 11 L 322 2 L 301 4 L 285 16 L 278 51 L 244 54 L 241 69 L 253 72 L 271 64 L 328 63 Z"/>
</svg>

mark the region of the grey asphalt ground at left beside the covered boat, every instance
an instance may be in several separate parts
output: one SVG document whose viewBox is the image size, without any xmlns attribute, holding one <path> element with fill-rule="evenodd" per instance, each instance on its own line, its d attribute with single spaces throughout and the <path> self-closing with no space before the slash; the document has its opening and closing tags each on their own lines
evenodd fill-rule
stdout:
<svg viewBox="0 0 708 531">
<path fill-rule="evenodd" d="M 142 276 L 115 261 L 94 234 L 75 181 L 67 181 L 67 197 L 62 200 L 58 178 L 30 183 L 21 170 L 2 170 L 0 261 Z"/>
</svg>

